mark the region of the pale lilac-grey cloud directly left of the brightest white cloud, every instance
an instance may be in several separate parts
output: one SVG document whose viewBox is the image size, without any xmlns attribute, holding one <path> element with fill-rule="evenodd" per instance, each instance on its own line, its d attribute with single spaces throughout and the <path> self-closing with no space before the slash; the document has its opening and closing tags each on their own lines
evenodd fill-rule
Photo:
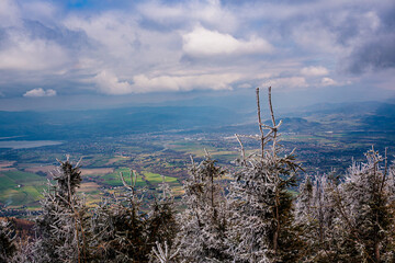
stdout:
<svg viewBox="0 0 395 263">
<path fill-rule="evenodd" d="M 94 73 L 106 68 L 116 76 L 129 77 L 179 67 L 180 34 L 144 28 L 137 20 L 133 14 L 111 11 L 89 18 L 70 15 L 65 21 L 67 28 L 83 32 L 91 45 L 79 57 L 79 70 Z"/>
</svg>

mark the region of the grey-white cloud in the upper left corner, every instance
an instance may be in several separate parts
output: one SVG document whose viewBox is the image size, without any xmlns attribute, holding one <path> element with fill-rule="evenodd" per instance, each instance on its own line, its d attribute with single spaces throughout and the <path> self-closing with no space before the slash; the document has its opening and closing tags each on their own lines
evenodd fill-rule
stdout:
<svg viewBox="0 0 395 263">
<path fill-rule="evenodd" d="M 0 70 L 40 71 L 44 77 L 44 71 L 52 73 L 72 60 L 69 43 L 74 35 L 61 32 L 52 20 L 54 14 L 49 3 L 0 2 Z"/>
</svg>

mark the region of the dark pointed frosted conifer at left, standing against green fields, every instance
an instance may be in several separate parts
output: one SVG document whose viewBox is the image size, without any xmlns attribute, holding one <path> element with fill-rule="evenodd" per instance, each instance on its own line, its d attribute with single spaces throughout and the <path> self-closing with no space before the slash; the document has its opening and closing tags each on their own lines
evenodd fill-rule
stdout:
<svg viewBox="0 0 395 263">
<path fill-rule="evenodd" d="M 48 182 L 41 202 L 43 214 L 36 219 L 35 262 L 86 262 L 87 207 L 76 194 L 81 183 L 79 163 L 72 165 L 69 157 L 59 163 L 53 174 L 56 183 Z"/>
</svg>

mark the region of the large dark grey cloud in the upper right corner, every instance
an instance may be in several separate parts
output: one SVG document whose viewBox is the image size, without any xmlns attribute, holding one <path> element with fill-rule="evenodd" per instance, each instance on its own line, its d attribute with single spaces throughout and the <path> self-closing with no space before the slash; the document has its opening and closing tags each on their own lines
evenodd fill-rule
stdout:
<svg viewBox="0 0 395 263">
<path fill-rule="evenodd" d="M 291 26 L 293 39 L 305 53 L 332 60 L 343 75 L 395 68 L 395 4 L 385 0 L 371 3 L 317 1 L 316 14 L 308 20 L 301 16 Z M 324 7 L 328 8 L 326 12 Z"/>
</svg>

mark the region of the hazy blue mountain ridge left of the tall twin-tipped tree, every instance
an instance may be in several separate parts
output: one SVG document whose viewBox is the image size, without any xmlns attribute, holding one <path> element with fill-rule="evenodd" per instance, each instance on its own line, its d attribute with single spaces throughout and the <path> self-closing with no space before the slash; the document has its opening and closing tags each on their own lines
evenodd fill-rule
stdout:
<svg viewBox="0 0 395 263">
<path fill-rule="evenodd" d="M 171 106 L 58 112 L 0 112 L 0 137 L 69 139 L 227 125 L 239 114 L 222 107 Z"/>
</svg>

